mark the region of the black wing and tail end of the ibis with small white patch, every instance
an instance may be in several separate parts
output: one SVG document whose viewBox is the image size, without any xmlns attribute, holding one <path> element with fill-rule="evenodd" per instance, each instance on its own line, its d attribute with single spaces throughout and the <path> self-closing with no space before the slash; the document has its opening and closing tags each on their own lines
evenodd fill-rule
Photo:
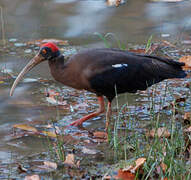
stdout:
<svg viewBox="0 0 191 180">
<path fill-rule="evenodd" d="M 106 50 L 106 49 L 105 49 Z M 102 49 L 103 52 L 105 52 Z M 99 52 L 102 52 L 99 50 Z M 110 101 L 117 93 L 145 90 L 147 87 L 168 78 L 184 78 L 184 63 L 149 55 L 108 49 L 92 67 L 89 78 L 91 88 L 97 95 L 105 95 Z M 97 68 L 97 70 L 96 70 Z"/>
</svg>

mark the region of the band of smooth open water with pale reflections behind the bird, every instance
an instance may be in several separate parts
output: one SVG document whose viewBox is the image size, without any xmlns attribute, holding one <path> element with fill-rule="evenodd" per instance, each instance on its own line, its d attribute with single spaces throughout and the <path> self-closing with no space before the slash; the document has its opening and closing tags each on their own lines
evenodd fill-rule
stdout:
<svg viewBox="0 0 191 180">
<path fill-rule="evenodd" d="M 89 34 L 112 32 L 125 42 L 145 43 L 150 36 L 190 29 L 189 2 L 127 1 L 108 7 L 105 0 L 1 1 L 6 38 L 66 38 L 94 42 Z M 141 7 L 141 8 L 140 8 Z"/>
</svg>

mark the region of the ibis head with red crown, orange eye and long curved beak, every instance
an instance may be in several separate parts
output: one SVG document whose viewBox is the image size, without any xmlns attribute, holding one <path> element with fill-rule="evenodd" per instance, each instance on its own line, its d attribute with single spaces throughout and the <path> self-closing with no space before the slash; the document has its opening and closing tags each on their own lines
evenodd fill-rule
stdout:
<svg viewBox="0 0 191 180">
<path fill-rule="evenodd" d="M 40 47 L 39 52 L 36 54 L 34 58 L 32 58 L 29 63 L 22 69 L 22 71 L 19 73 L 17 76 L 16 80 L 14 81 L 11 91 L 10 91 L 10 96 L 13 95 L 13 92 L 19 83 L 19 81 L 23 78 L 23 76 L 29 72 L 33 67 L 35 67 L 37 64 L 45 61 L 45 60 L 53 60 L 60 56 L 60 51 L 58 47 L 52 43 L 45 43 Z"/>
</svg>

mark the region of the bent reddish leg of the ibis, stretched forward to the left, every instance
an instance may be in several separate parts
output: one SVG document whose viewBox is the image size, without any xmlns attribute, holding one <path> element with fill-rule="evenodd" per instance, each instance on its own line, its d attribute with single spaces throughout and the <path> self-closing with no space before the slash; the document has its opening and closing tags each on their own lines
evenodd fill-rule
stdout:
<svg viewBox="0 0 191 180">
<path fill-rule="evenodd" d="M 99 103 L 99 109 L 96 112 L 88 114 L 88 115 L 82 117 L 81 119 L 74 121 L 73 123 L 70 124 L 70 126 L 81 126 L 83 124 L 83 122 L 87 121 L 88 119 L 96 117 L 99 114 L 105 112 L 103 96 L 98 96 L 98 103 Z"/>
</svg>

